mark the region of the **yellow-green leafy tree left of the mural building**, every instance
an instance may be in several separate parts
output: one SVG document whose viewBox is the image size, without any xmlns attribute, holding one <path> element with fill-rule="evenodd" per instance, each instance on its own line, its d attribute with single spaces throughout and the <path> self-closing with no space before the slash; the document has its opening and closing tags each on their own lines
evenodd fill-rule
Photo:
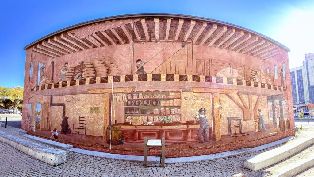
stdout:
<svg viewBox="0 0 314 177">
<path fill-rule="evenodd" d="M 23 100 L 23 87 L 0 87 L 0 98 L 8 98 L 12 101 L 14 111 L 19 105 L 19 102 Z"/>
</svg>

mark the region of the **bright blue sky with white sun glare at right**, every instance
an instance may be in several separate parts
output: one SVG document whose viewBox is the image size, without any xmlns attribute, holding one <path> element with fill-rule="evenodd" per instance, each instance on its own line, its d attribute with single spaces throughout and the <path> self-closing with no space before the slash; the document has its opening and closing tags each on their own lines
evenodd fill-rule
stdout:
<svg viewBox="0 0 314 177">
<path fill-rule="evenodd" d="M 290 67 L 314 52 L 314 1 L 5 1 L 1 2 L 0 86 L 24 85 L 27 44 L 88 20 L 133 14 L 175 13 L 226 21 L 290 48 Z"/>
</svg>

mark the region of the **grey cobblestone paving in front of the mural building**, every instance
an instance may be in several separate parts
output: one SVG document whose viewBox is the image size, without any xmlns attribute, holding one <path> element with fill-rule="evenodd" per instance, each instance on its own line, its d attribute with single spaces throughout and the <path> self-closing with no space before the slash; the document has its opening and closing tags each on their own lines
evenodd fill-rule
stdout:
<svg viewBox="0 0 314 177">
<path fill-rule="evenodd" d="M 14 134 L 16 128 L 0 128 L 6 134 Z M 24 136 L 14 134 L 20 138 Z M 29 139 L 28 139 L 29 140 Z M 73 151 L 68 152 L 68 162 L 57 167 L 31 158 L 28 155 L 0 142 L 0 174 L 3 176 L 232 176 L 237 173 L 246 177 L 260 177 L 262 172 L 253 172 L 243 167 L 247 157 L 279 147 L 256 151 L 236 157 L 223 159 L 167 163 L 161 168 L 159 163 L 148 163 L 145 167 L 141 162 L 129 162 L 85 155 Z M 307 172 L 304 172 L 307 173 Z M 310 172 L 311 173 L 311 172 Z M 301 175 L 301 174 L 300 174 Z"/>
</svg>

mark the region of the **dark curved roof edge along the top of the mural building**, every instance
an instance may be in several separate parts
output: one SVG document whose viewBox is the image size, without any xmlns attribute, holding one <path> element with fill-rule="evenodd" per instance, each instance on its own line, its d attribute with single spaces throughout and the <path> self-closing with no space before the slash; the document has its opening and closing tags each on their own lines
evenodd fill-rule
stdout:
<svg viewBox="0 0 314 177">
<path fill-rule="evenodd" d="M 129 19 L 129 18 L 141 18 L 141 17 L 171 17 L 171 18 L 181 18 L 181 19 L 189 19 L 189 20 L 199 20 L 199 21 L 205 21 L 205 22 L 210 22 L 210 23 L 218 23 L 220 25 L 225 25 L 225 26 L 229 26 L 229 27 L 236 27 L 238 29 L 241 29 L 243 31 L 248 31 L 254 35 L 257 36 L 261 36 L 264 37 L 265 39 L 268 39 L 269 41 L 278 44 L 279 46 L 281 46 L 282 48 L 286 49 L 288 52 L 290 52 L 290 49 L 288 47 L 286 47 L 285 45 L 277 42 L 276 40 L 273 40 L 270 37 L 267 37 L 261 33 L 258 33 L 256 31 L 247 29 L 245 27 L 242 26 L 238 26 L 232 23 L 228 23 L 225 21 L 220 21 L 220 20 L 215 20 L 215 19 L 210 19 L 210 18 L 205 18 L 205 17 L 198 17 L 198 16 L 192 16 L 192 15 L 182 15 L 182 14 L 169 14 L 169 13 L 140 13 L 140 14 L 124 14 L 124 15 L 115 15 L 115 16 L 110 16 L 110 17 L 104 17 L 104 18 L 99 18 L 99 19 L 94 19 L 94 20 L 89 20 L 89 21 L 85 21 L 82 23 L 78 23 L 72 26 L 68 26 L 65 28 L 62 28 L 58 31 L 52 32 L 44 37 L 41 37 L 39 39 L 37 39 L 36 41 L 26 45 L 24 47 L 24 50 L 27 50 L 28 48 L 30 48 L 31 46 L 35 45 L 36 43 L 39 43 L 42 40 L 45 40 L 49 37 L 53 37 L 59 33 L 65 32 L 65 31 L 69 31 L 78 27 L 82 27 L 82 26 L 86 26 L 86 25 L 90 25 L 93 23 L 99 23 L 99 22 L 104 22 L 104 21 L 111 21 L 111 20 L 122 20 L 122 19 Z"/>
</svg>

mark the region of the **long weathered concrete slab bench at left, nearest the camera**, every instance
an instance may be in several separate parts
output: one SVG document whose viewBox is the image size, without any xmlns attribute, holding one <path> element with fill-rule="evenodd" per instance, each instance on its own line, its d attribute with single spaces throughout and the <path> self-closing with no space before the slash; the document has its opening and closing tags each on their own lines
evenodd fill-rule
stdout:
<svg viewBox="0 0 314 177">
<path fill-rule="evenodd" d="M 68 159 L 67 151 L 8 135 L 3 131 L 0 131 L 0 141 L 49 165 L 57 166 L 66 163 Z"/>
</svg>

